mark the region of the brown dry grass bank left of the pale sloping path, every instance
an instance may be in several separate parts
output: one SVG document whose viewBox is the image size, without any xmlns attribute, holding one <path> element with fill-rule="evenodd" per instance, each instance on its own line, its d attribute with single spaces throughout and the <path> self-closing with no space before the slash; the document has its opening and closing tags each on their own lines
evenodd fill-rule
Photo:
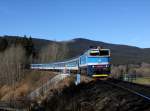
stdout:
<svg viewBox="0 0 150 111">
<path fill-rule="evenodd" d="M 27 71 L 24 79 L 14 86 L 4 85 L 0 87 L 0 100 L 8 101 L 24 97 L 54 75 L 49 71 Z"/>
</svg>

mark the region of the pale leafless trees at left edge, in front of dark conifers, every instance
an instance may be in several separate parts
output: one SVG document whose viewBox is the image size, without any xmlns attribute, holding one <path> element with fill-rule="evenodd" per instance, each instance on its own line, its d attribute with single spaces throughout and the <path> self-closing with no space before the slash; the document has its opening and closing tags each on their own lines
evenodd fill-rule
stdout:
<svg viewBox="0 0 150 111">
<path fill-rule="evenodd" d="M 0 54 L 0 77 L 3 83 L 14 84 L 22 78 L 24 59 L 25 51 L 21 46 L 12 46 Z"/>
</svg>

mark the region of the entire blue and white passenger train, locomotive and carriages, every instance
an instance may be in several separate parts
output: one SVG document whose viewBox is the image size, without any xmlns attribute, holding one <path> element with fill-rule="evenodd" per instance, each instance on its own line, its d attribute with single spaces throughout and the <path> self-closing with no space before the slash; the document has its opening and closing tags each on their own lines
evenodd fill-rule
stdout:
<svg viewBox="0 0 150 111">
<path fill-rule="evenodd" d="M 76 58 L 61 62 L 31 64 L 31 69 L 69 70 L 93 78 L 107 78 L 111 73 L 111 53 L 110 49 L 92 47 Z"/>
</svg>

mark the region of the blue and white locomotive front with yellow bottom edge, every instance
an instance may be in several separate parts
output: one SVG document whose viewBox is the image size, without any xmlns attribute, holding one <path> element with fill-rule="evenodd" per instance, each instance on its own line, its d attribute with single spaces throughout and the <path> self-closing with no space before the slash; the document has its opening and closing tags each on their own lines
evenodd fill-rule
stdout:
<svg viewBox="0 0 150 111">
<path fill-rule="evenodd" d="M 105 78 L 110 74 L 110 50 L 90 49 L 88 55 L 88 73 L 92 77 Z"/>
</svg>

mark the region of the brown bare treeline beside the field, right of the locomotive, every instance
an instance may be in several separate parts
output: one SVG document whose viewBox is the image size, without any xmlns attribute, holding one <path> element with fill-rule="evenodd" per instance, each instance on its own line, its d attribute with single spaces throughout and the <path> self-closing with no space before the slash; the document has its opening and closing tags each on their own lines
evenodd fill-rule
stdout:
<svg viewBox="0 0 150 111">
<path fill-rule="evenodd" d="M 112 65 L 111 76 L 123 79 L 123 77 L 150 77 L 150 64 L 124 64 Z"/>
</svg>

